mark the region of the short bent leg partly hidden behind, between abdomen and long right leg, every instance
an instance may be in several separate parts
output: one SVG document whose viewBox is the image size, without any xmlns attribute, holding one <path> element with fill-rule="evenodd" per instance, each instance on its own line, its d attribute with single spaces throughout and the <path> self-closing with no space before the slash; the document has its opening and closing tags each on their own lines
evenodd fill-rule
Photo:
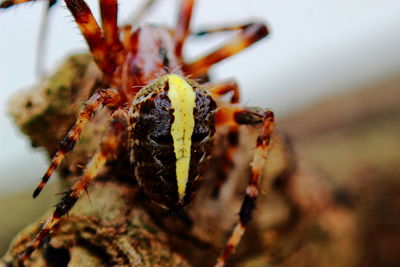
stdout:
<svg viewBox="0 0 400 267">
<path fill-rule="evenodd" d="M 207 85 L 208 86 L 208 85 Z M 222 83 L 210 86 L 210 92 L 215 99 L 218 99 L 227 93 L 233 92 L 230 99 L 231 104 L 239 103 L 239 87 L 234 80 L 228 80 Z M 218 122 L 217 122 L 218 123 Z M 223 123 L 223 122 L 222 122 Z M 229 171 L 233 168 L 233 158 L 239 144 L 239 127 L 237 124 L 230 124 L 227 133 L 228 146 L 222 155 L 222 163 L 218 164 L 216 181 L 211 192 L 212 198 L 218 198 L 222 186 L 225 184 Z"/>
</svg>

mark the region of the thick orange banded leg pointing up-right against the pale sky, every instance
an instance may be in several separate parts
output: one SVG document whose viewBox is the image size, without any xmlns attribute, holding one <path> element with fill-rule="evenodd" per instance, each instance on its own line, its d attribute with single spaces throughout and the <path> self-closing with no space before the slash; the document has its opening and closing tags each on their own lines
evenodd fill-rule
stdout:
<svg viewBox="0 0 400 267">
<path fill-rule="evenodd" d="M 242 51 L 267 35 L 268 29 L 262 23 L 245 25 L 243 29 L 225 45 L 192 63 L 185 64 L 183 69 L 194 78 L 204 75 L 212 65 Z"/>
</svg>

